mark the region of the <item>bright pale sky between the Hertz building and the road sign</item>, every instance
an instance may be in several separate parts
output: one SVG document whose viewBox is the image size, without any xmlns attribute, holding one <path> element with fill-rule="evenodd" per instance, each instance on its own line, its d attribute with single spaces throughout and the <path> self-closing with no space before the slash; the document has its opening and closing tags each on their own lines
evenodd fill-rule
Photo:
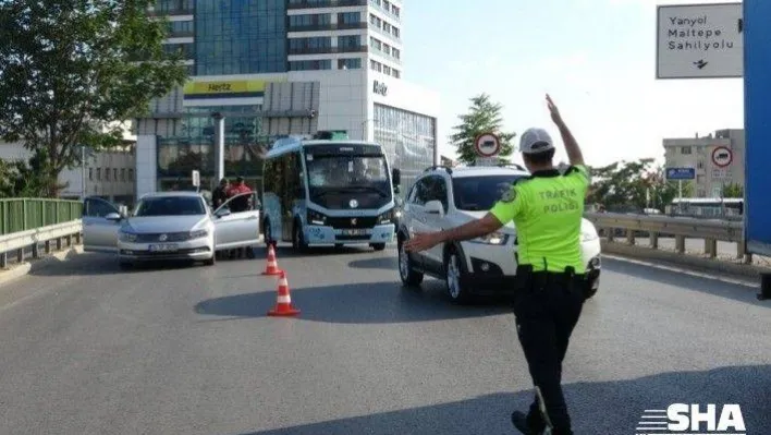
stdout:
<svg viewBox="0 0 771 435">
<path fill-rule="evenodd" d="M 443 154 L 453 155 L 452 126 L 482 92 L 504 105 L 506 130 L 546 126 L 558 138 L 548 92 L 588 164 L 663 161 L 663 137 L 744 123 L 741 78 L 656 78 L 657 4 L 709 2 L 720 1 L 408 1 L 404 78 L 440 93 Z"/>
</svg>

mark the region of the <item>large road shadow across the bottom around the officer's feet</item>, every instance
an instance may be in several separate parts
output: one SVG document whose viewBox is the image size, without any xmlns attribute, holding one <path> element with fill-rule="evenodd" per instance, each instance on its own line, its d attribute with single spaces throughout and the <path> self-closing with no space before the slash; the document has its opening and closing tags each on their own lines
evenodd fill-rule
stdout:
<svg viewBox="0 0 771 435">
<path fill-rule="evenodd" d="M 564 390 L 576 434 L 634 435 L 641 432 L 637 427 L 645 410 L 665 410 L 672 403 L 698 403 L 702 412 L 708 403 L 715 403 L 718 418 L 723 404 L 737 403 L 742 409 L 747 434 L 771 433 L 771 365 L 730 366 L 703 372 L 663 373 L 628 380 L 576 383 L 565 385 Z M 510 422 L 511 411 L 525 410 L 531 400 L 530 390 L 493 394 L 430 407 L 238 435 L 516 434 L 518 432 Z M 702 424 L 700 432 L 709 432 L 706 430 L 707 426 Z"/>
</svg>

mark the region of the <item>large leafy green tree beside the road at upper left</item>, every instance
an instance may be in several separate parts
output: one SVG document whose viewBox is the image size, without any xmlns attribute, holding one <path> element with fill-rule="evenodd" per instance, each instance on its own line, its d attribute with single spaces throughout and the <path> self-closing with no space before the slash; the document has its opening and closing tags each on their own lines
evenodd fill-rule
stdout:
<svg viewBox="0 0 771 435">
<path fill-rule="evenodd" d="M 45 191 L 79 162 L 79 146 L 121 143 L 123 122 L 186 80 L 167 53 L 152 1 L 0 1 L 0 140 L 23 142 Z"/>
</svg>

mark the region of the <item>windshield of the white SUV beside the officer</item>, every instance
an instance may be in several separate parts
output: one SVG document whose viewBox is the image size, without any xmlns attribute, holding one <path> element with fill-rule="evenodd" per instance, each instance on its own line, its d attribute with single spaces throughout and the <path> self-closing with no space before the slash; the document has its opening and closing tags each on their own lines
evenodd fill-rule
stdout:
<svg viewBox="0 0 771 435">
<path fill-rule="evenodd" d="M 463 177 L 452 180 L 455 208 L 466 212 L 489 210 L 509 192 L 516 180 L 525 176 Z"/>
</svg>

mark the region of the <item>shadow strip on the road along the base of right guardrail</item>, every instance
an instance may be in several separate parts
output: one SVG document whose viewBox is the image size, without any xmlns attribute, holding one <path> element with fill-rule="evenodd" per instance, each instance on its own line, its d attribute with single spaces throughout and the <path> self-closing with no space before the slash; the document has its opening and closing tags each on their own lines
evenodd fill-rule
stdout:
<svg viewBox="0 0 771 435">
<path fill-rule="evenodd" d="M 645 280 L 652 280 L 669 286 L 682 287 L 701 293 L 748 303 L 750 305 L 771 307 L 771 304 L 768 302 L 758 301 L 756 298 L 756 294 L 759 291 L 759 286 L 758 288 L 752 289 L 747 286 L 710 279 L 709 277 L 699 277 L 683 274 L 676 270 L 660 269 L 652 266 L 608 257 L 602 258 L 602 269 L 615 274 L 629 275 L 632 277 Z M 600 291 L 601 289 L 602 282 L 600 282 Z"/>
</svg>

